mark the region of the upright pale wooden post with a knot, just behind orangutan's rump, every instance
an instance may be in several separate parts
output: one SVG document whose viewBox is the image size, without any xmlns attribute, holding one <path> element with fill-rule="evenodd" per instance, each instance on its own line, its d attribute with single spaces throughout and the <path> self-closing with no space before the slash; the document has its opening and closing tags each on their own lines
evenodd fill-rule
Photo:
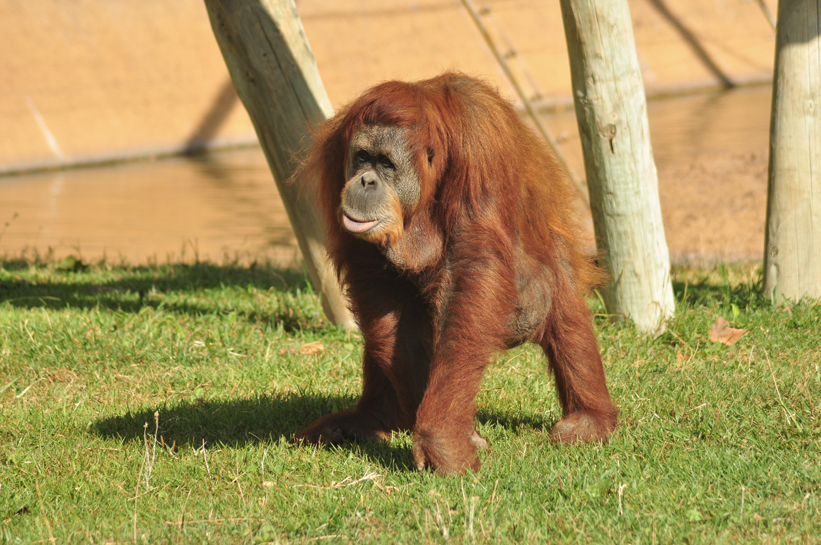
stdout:
<svg viewBox="0 0 821 545">
<path fill-rule="evenodd" d="M 659 331 L 675 309 L 647 104 L 626 0 L 561 0 L 608 313 Z"/>
</svg>

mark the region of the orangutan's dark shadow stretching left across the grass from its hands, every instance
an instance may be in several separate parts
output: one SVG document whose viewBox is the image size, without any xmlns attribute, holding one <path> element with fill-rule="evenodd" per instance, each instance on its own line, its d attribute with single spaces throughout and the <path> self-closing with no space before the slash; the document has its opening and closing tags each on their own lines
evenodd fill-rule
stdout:
<svg viewBox="0 0 821 545">
<path fill-rule="evenodd" d="M 142 408 L 97 420 L 90 432 L 106 439 L 142 442 L 144 433 L 154 436 L 154 411 L 159 412 L 157 436 L 177 447 L 241 448 L 277 445 L 284 439 L 294 448 L 310 449 L 292 442 L 294 435 L 322 414 L 351 408 L 355 396 L 322 394 L 273 394 L 227 401 L 195 400 L 179 405 Z M 145 428 L 148 424 L 148 428 Z M 414 469 L 410 448 L 395 442 L 342 442 L 333 447 L 355 451 L 388 469 Z"/>
</svg>

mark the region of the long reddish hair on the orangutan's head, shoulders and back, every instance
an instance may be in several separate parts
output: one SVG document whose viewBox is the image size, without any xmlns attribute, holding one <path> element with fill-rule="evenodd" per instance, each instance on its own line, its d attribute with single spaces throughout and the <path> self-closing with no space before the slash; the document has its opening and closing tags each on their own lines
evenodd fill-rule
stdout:
<svg viewBox="0 0 821 545">
<path fill-rule="evenodd" d="M 375 85 L 313 131 L 300 177 L 315 184 L 340 277 L 354 240 L 340 224 L 346 154 L 365 125 L 409 130 L 422 182 L 409 217 L 429 210 L 446 239 L 459 222 L 481 222 L 498 233 L 495 240 L 509 243 L 505 254 L 521 244 L 544 263 L 569 263 L 582 292 L 600 282 L 593 259 L 579 250 L 575 191 L 557 159 L 496 89 L 458 72 Z"/>
</svg>

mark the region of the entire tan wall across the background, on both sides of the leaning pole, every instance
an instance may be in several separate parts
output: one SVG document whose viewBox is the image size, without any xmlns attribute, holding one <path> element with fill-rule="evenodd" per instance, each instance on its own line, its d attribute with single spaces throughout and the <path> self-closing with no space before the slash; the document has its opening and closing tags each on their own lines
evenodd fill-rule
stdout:
<svg viewBox="0 0 821 545">
<path fill-rule="evenodd" d="M 775 0 L 767 0 L 774 12 Z M 570 94 L 557 0 L 484 0 L 531 98 Z M 452 68 L 513 98 L 458 0 L 298 0 L 334 104 Z M 649 89 L 766 80 L 773 30 L 747 0 L 631 0 Z M 253 139 L 200 0 L 0 0 L 0 172 Z"/>
</svg>

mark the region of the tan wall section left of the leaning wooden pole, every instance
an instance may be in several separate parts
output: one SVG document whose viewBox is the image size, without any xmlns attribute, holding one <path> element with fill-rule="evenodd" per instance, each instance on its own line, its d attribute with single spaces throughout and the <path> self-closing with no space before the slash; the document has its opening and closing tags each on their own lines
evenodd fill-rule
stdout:
<svg viewBox="0 0 821 545">
<path fill-rule="evenodd" d="M 209 112 L 225 117 L 213 136 L 250 134 L 199 0 L 2 0 L 0 13 L 0 164 L 180 146 L 211 136 Z"/>
</svg>

